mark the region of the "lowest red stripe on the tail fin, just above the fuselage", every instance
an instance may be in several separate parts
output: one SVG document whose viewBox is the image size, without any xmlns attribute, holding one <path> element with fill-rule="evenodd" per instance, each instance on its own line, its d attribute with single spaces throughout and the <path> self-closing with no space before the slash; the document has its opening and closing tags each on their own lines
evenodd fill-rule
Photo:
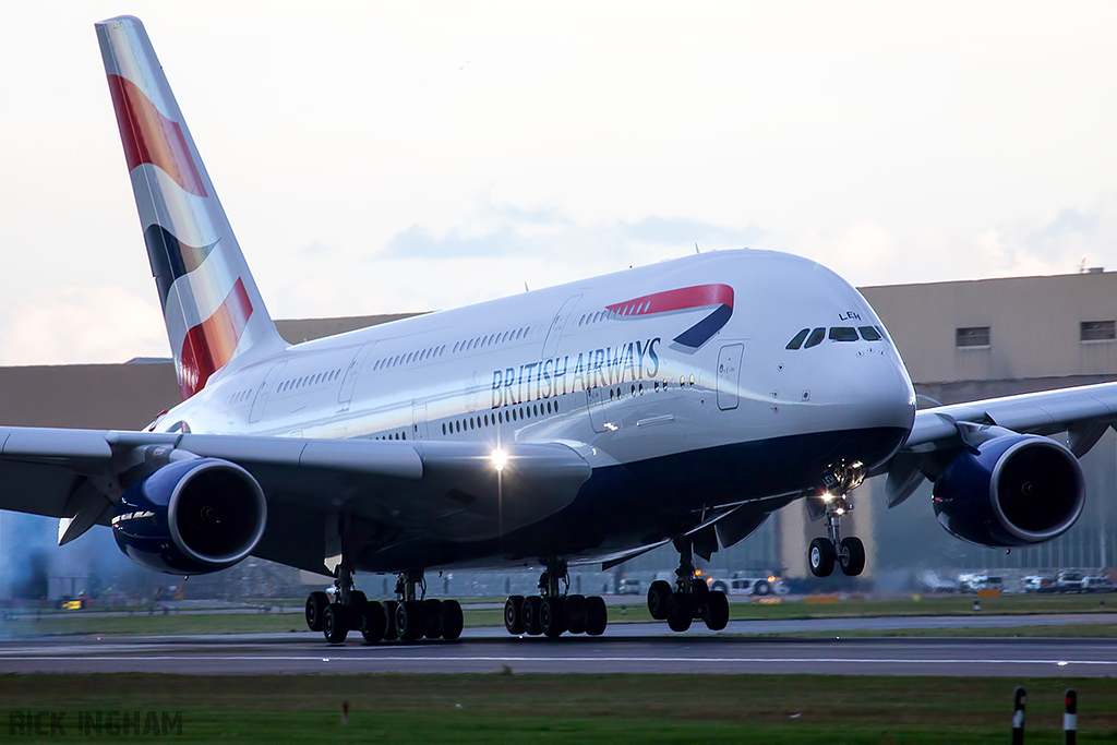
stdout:
<svg viewBox="0 0 1117 745">
<path fill-rule="evenodd" d="M 179 373 L 183 401 L 206 388 L 210 375 L 232 360 L 250 315 L 252 304 L 245 292 L 245 283 L 237 279 L 221 307 L 187 332 Z"/>
</svg>

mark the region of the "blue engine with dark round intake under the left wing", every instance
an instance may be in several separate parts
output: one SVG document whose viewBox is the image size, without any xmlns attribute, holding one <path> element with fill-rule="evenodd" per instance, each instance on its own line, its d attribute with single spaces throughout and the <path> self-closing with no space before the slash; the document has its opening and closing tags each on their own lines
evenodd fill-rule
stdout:
<svg viewBox="0 0 1117 745">
<path fill-rule="evenodd" d="M 179 460 L 133 484 L 113 516 L 132 561 L 171 574 L 232 566 L 259 543 L 267 502 L 256 479 L 218 458 Z"/>
</svg>

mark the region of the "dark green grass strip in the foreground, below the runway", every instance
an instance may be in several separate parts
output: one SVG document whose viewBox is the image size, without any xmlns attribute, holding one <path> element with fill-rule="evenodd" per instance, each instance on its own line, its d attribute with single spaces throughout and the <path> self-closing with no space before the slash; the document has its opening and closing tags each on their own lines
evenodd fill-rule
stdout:
<svg viewBox="0 0 1117 745">
<path fill-rule="evenodd" d="M 1068 687 L 1079 742 L 1117 738 L 1106 678 L 8 675 L 0 725 L 12 713 L 66 711 L 74 726 L 78 711 L 123 709 L 181 711 L 179 742 L 986 743 L 1008 739 L 1018 685 L 1028 742 L 1061 742 Z"/>
</svg>

